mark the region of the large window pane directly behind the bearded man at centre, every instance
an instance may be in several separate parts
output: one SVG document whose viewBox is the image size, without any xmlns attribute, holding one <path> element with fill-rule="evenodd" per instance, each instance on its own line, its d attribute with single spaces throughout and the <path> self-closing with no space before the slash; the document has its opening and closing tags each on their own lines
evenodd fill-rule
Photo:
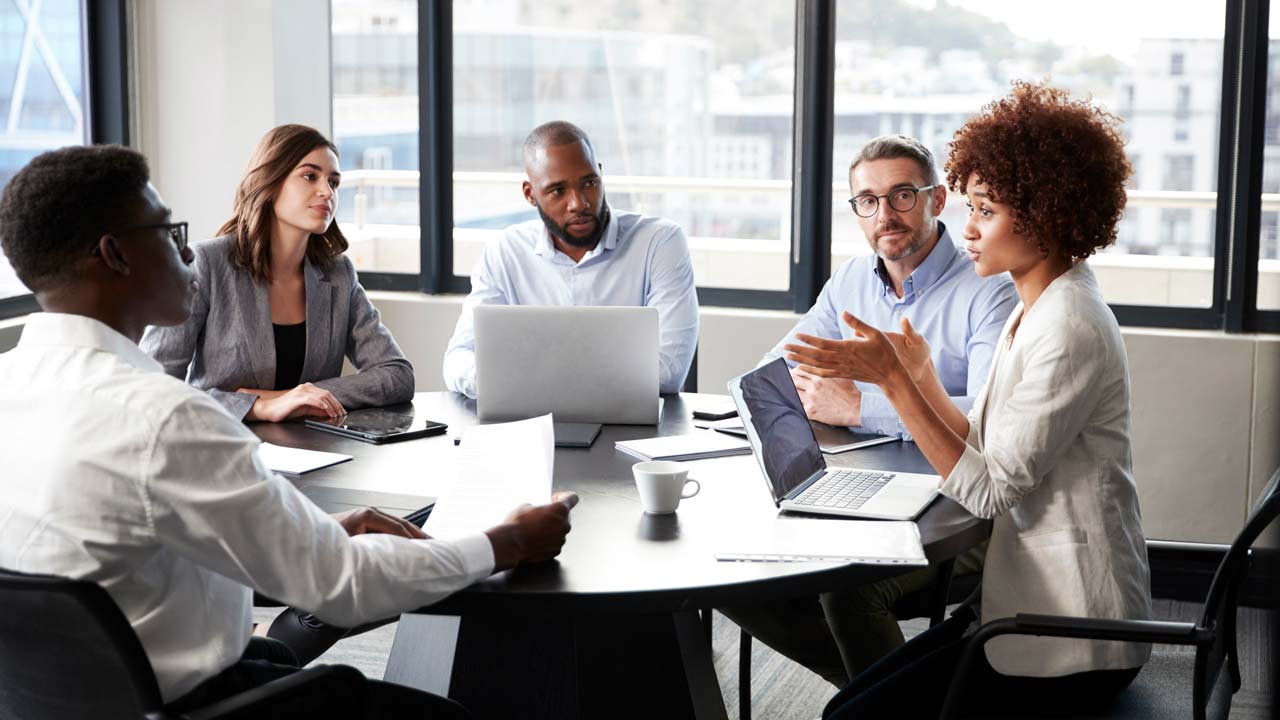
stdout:
<svg viewBox="0 0 1280 720">
<path fill-rule="evenodd" d="M 608 202 L 689 236 L 701 287 L 790 284 L 795 4 L 453 4 L 453 272 L 538 218 L 521 145 L 540 123 L 591 137 Z"/>
</svg>

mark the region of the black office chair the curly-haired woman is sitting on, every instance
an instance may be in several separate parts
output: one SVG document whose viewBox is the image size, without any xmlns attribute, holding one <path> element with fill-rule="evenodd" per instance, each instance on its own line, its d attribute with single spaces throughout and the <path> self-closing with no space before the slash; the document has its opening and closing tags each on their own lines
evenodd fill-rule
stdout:
<svg viewBox="0 0 1280 720">
<path fill-rule="evenodd" d="M 1253 543 L 1280 516 L 1280 470 L 1262 491 L 1262 497 L 1254 505 L 1244 523 L 1244 529 L 1235 537 L 1222 562 L 1213 574 L 1204 610 L 1198 623 L 1166 623 L 1155 620 L 1101 620 L 1093 618 L 1064 618 L 1056 615 L 1018 614 L 1014 618 L 992 620 L 979 628 L 968 641 L 960 665 L 951 685 L 947 688 L 942 717 L 956 717 L 960 696 L 965 687 L 965 675 L 973 659 L 991 638 L 1007 634 L 1038 635 L 1056 638 L 1083 638 L 1097 641 L 1129 641 L 1166 643 L 1196 647 L 1194 667 L 1192 667 L 1192 708 L 1196 720 L 1203 720 L 1212 703 L 1215 715 L 1226 717 L 1231 706 L 1231 696 L 1240 689 L 1240 665 L 1235 643 L 1235 612 L 1240 584 L 1248 575 L 1251 565 L 1265 565 L 1270 570 L 1268 579 L 1276 580 L 1276 553 L 1271 548 L 1253 548 Z M 1274 585 L 1272 585 L 1272 589 Z M 1165 682 L 1161 671 L 1185 673 L 1185 666 L 1178 664 L 1152 670 L 1152 662 L 1143 667 L 1133 684 L 1120 693 L 1112 707 L 1100 717 L 1179 717 L 1187 715 L 1185 679 Z M 1222 666 L 1226 666 L 1230 692 L 1219 687 Z M 1148 671 L 1152 670 L 1152 671 Z M 1181 692 L 1179 692 L 1181 691 Z"/>
</svg>

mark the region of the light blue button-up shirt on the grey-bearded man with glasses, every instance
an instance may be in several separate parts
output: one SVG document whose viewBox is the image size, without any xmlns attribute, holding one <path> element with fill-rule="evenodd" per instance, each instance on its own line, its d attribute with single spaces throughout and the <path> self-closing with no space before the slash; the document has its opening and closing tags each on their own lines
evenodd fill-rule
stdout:
<svg viewBox="0 0 1280 720">
<path fill-rule="evenodd" d="M 782 357 L 786 352 L 782 346 L 795 342 L 796 333 L 844 340 L 854 337 L 852 328 L 840 318 L 844 310 L 886 332 L 901 332 L 905 316 L 929 341 L 933 366 L 942 386 L 968 414 L 987 382 L 1000 331 L 1018 305 L 1018 295 L 1007 274 L 978 277 L 973 260 L 955 246 L 946 225 L 938 223 L 938 232 L 942 236 L 938 243 L 902 283 L 902 297 L 893 292 L 892 281 L 883 274 L 879 258 L 851 258 L 827 281 L 809 313 L 760 363 Z M 863 392 L 864 429 L 910 439 L 897 411 L 879 387 L 858 383 L 858 389 Z"/>
</svg>

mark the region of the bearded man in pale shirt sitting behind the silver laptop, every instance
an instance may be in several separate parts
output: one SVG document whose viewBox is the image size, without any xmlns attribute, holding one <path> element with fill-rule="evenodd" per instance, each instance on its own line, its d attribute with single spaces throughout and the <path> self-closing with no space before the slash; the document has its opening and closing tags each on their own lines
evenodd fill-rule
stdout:
<svg viewBox="0 0 1280 720">
<path fill-rule="evenodd" d="M 444 352 L 449 389 L 476 396 L 476 305 L 631 305 L 658 309 L 658 389 L 680 392 L 698 347 L 689 242 L 675 223 L 611 209 L 600 169 L 579 127 L 529 133 L 524 192 L 540 219 L 485 245 Z"/>
</svg>

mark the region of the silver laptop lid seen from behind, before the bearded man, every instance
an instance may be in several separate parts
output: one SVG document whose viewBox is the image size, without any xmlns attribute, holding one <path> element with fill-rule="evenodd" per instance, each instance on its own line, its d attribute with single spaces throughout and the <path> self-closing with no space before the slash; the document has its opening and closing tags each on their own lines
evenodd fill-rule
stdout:
<svg viewBox="0 0 1280 720">
<path fill-rule="evenodd" d="M 658 309 L 480 305 L 480 420 L 658 423 Z"/>
</svg>

